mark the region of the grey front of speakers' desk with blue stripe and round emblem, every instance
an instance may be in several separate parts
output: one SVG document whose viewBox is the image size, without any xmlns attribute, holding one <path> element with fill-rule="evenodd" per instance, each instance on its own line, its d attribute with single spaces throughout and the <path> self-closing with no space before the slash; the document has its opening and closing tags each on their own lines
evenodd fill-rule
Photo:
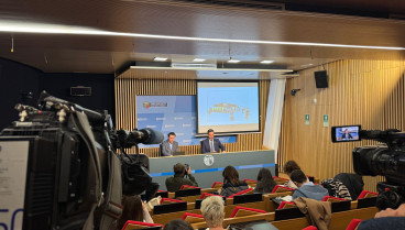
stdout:
<svg viewBox="0 0 405 230">
<path fill-rule="evenodd" d="M 242 180 L 256 179 L 260 168 L 269 168 L 275 175 L 273 150 L 209 153 L 150 158 L 150 174 L 158 183 L 161 190 L 166 190 L 165 180 L 174 175 L 173 166 L 177 163 L 188 164 L 198 187 L 209 188 L 214 182 L 223 182 L 222 171 L 228 165 L 237 168 Z"/>
</svg>

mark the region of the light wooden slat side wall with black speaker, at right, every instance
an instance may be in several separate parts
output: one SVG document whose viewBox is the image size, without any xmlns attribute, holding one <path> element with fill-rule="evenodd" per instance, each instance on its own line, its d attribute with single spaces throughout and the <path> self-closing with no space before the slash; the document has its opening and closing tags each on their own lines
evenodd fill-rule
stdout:
<svg viewBox="0 0 405 230">
<path fill-rule="evenodd" d="M 354 146 L 376 144 L 370 140 L 331 143 L 330 127 L 405 130 L 405 62 L 346 59 L 325 68 L 329 75 L 327 89 L 315 86 L 314 72 L 321 67 L 302 70 L 299 77 L 287 80 L 286 92 L 300 91 L 295 97 L 286 94 L 278 151 L 278 164 L 295 160 L 306 174 L 321 179 L 353 172 Z M 310 125 L 305 125 L 305 114 L 310 116 Z M 328 128 L 324 128 L 324 114 L 329 114 Z M 375 184 L 381 180 L 382 176 L 364 177 L 365 189 L 376 190 Z"/>
</svg>

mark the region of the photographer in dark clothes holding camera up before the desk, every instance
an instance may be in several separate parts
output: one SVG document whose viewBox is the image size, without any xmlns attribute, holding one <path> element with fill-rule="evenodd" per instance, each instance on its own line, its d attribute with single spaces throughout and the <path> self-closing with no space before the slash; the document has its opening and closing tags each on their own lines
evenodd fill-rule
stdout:
<svg viewBox="0 0 405 230">
<path fill-rule="evenodd" d="M 177 191 L 183 185 L 198 186 L 196 178 L 191 175 L 190 167 L 186 168 L 184 164 L 177 163 L 173 166 L 173 171 L 174 176 L 166 178 L 166 187 L 168 191 Z"/>
</svg>

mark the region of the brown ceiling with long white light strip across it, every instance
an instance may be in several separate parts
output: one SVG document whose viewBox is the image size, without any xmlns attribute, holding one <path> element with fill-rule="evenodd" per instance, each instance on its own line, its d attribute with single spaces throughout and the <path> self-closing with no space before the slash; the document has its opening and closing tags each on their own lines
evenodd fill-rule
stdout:
<svg viewBox="0 0 405 230">
<path fill-rule="evenodd" d="M 360 8 L 365 0 L 319 1 Z M 297 1 L 284 1 L 295 3 Z M 324 3 L 322 3 L 324 2 Z M 405 1 L 401 1 L 405 2 Z M 397 3 L 370 1 L 371 8 Z M 398 11 L 403 3 L 398 4 Z M 186 1 L 6 1 L 0 23 L 25 21 L 90 28 L 94 30 L 285 42 L 333 43 L 405 47 L 405 22 L 401 20 L 347 17 L 265 9 L 242 9 Z M 14 52 L 11 53 L 11 40 Z M 166 55 L 171 59 L 204 57 L 226 62 L 230 57 L 247 63 L 274 59 L 277 65 L 300 69 L 303 65 L 341 58 L 401 59 L 404 51 L 339 48 L 241 43 L 212 43 L 106 35 L 0 33 L 0 56 L 44 72 L 116 73 L 136 59 L 151 61 Z"/>
</svg>

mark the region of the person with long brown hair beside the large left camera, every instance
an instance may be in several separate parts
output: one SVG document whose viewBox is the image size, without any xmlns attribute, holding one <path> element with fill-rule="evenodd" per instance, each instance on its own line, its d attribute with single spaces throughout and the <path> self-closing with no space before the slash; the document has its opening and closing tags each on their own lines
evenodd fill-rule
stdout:
<svg viewBox="0 0 405 230">
<path fill-rule="evenodd" d="M 151 215 L 138 195 L 122 196 L 122 213 L 117 220 L 116 229 L 121 230 L 128 220 L 153 223 Z"/>
</svg>

